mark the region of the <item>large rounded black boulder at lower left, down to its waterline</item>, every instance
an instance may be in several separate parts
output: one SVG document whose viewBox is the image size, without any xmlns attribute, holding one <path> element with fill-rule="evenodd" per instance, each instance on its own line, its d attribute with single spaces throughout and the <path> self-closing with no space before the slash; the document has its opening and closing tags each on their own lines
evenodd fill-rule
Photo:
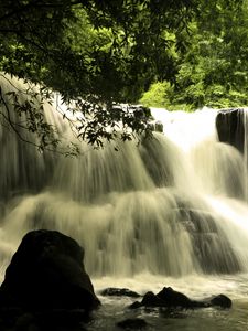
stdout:
<svg viewBox="0 0 248 331">
<path fill-rule="evenodd" d="M 0 309 L 84 309 L 100 305 L 83 265 L 84 250 L 56 231 L 28 233 L 6 270 Z"/>
</svg>

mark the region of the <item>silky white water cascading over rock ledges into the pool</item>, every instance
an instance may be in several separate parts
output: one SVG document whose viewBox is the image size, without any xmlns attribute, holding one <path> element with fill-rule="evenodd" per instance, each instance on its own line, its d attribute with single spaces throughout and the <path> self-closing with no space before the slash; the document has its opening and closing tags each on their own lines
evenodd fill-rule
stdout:
<svg viewBox="0 0 248 331">
<path fill-rule="evenodd" d="M 7 81 L 1 87 L 11 88 Z M 51 106 L 45 114 L 74 139 Z M 77 159 L 39 153 L 0 127 L 1 279 L 28 231 L 57 229 L 85 247 L 104 303 L 88 330 L 118 330 L 116 322 L 132 317 L 145 319 L 148 330 L 247 330 L 246 157 L 218 141 L 213 109 L 152 114 L 163 134 L 103 150 L 82 145 Z M 234 307 L 130 311 L 132 299 L 100 296 L 106 287 L 143 295 L 164 286 L 195 299 L 222 292 Z"/>
</svg>

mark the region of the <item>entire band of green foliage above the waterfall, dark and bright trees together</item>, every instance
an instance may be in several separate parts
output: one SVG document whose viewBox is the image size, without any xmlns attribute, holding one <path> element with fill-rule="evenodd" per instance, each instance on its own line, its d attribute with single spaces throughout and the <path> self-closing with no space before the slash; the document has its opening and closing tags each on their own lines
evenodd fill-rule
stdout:
<svg viewBox="0 0 248 331">
<path fill-rule="evenodd" d="M 247 105 L 247 0 L 2 0 L 0 71 L 90 111 L 78 136 L 95 143 L 117 121 L 147 129 L 118 103 Z"/>
</svg>

